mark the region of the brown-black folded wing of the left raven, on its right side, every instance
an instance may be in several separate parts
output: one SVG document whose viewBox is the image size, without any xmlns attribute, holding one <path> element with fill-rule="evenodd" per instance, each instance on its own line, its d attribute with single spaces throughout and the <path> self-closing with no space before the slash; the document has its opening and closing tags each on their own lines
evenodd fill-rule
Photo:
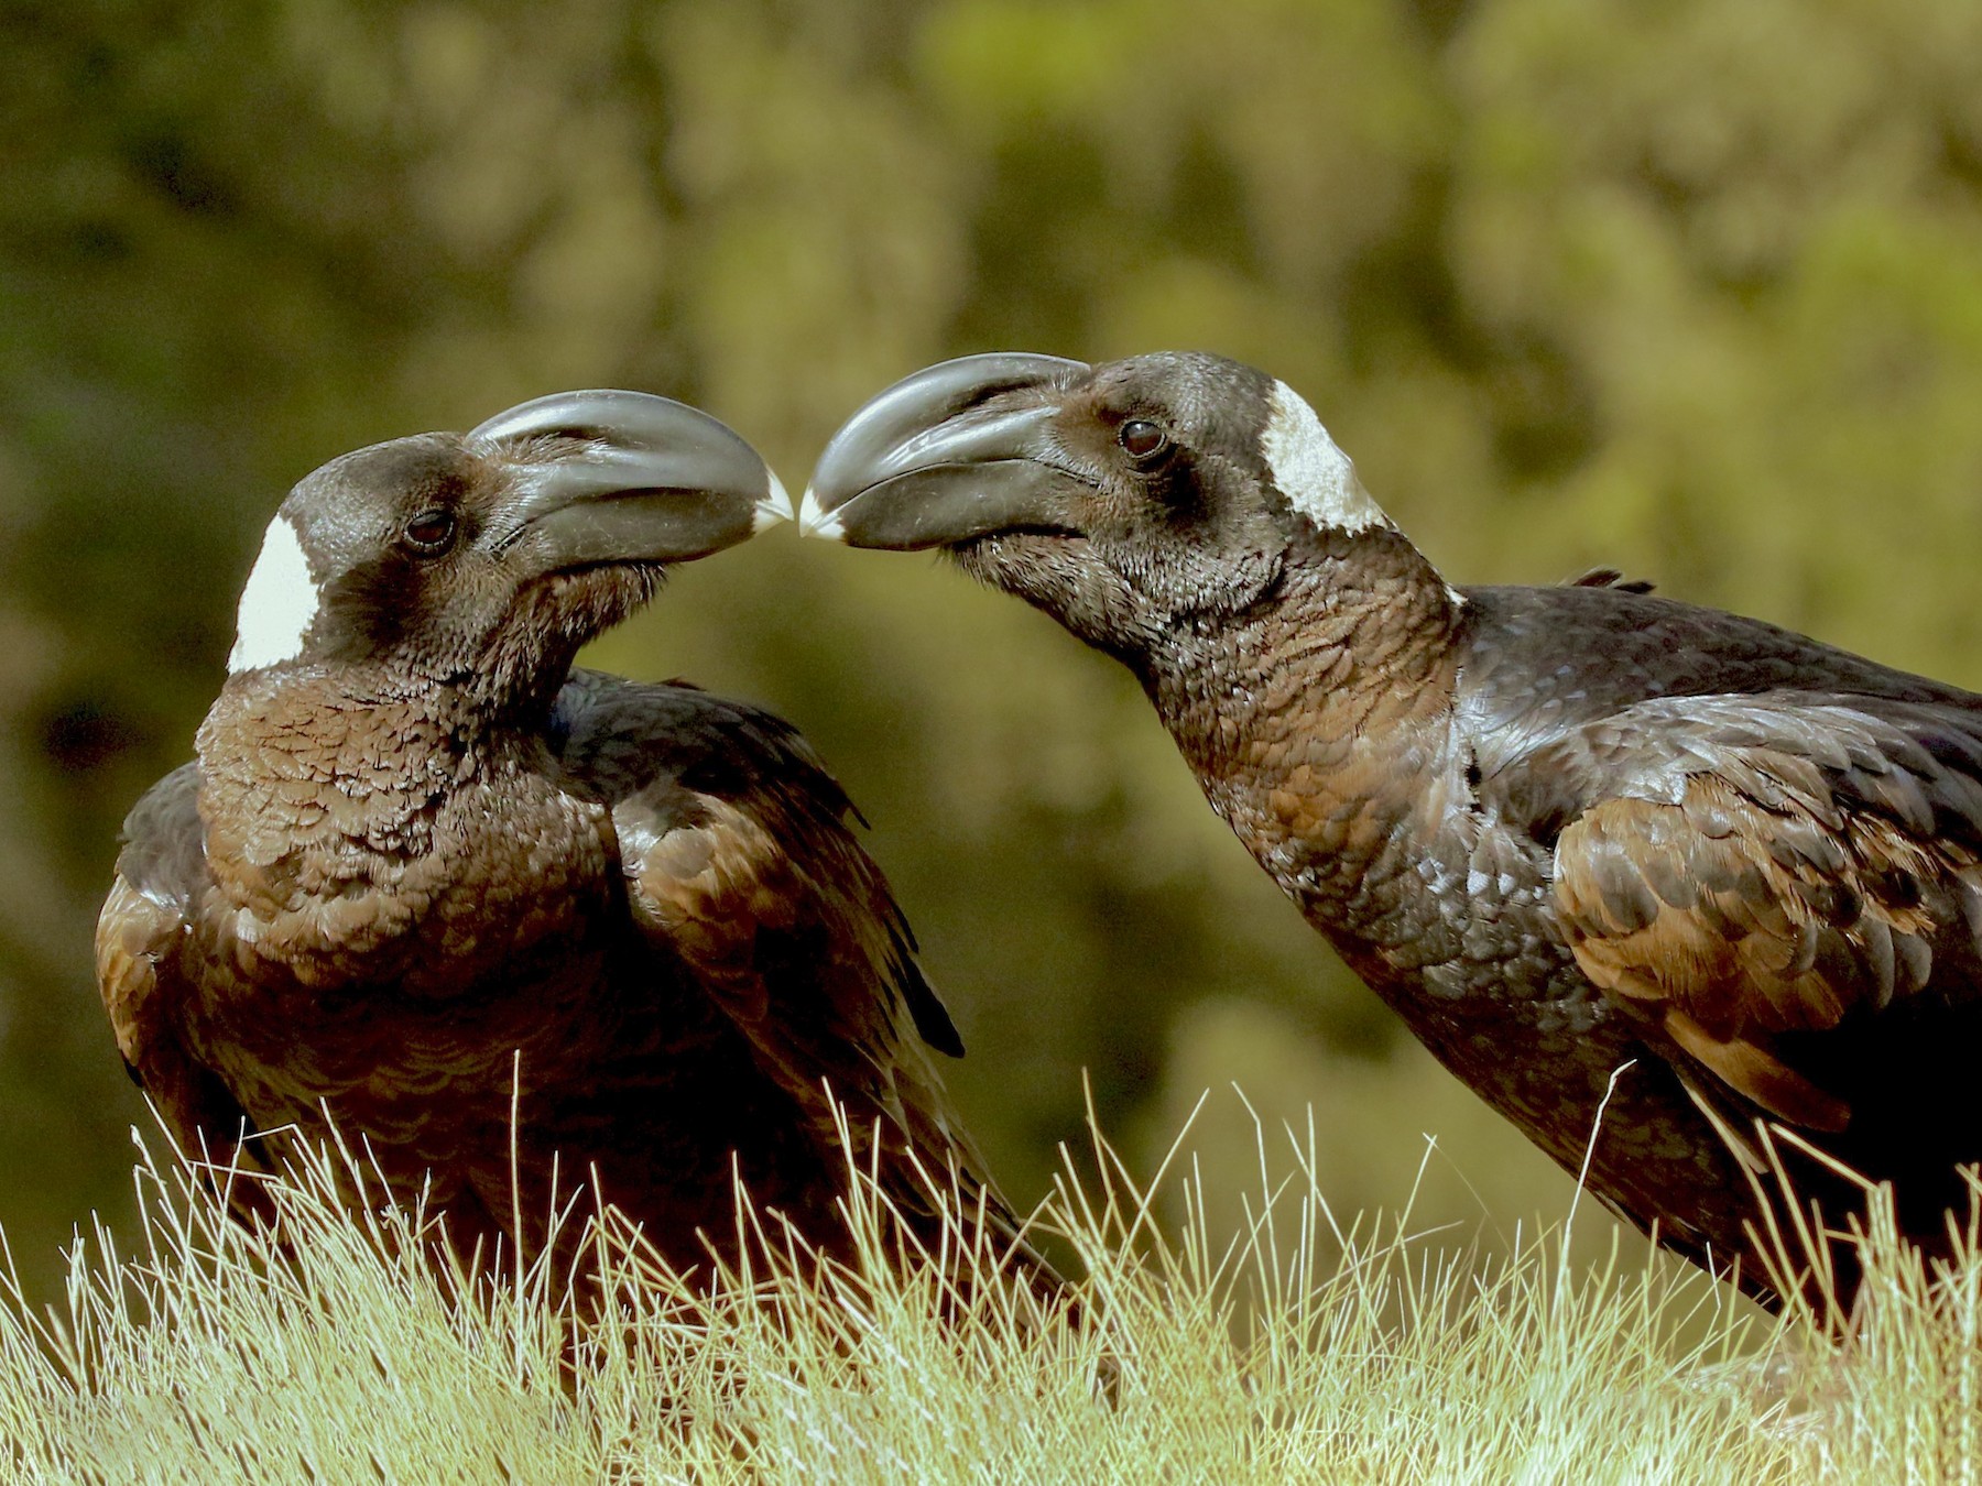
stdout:
<svg viewBox="0 0 1982 1486">
<path fill-rule="evenodd" d="M 924 1169 L 989 1191 L 930 1058 L 963 1044 L 811 749 L 753 707 L 585 674 L 559 713 L 565 767 L 612 806 L 634 921 L 712 987 L 819 1139 L 836 1143 L 830 1086 L 856 1159 L 880 1115 Z M 904 1211 L 928 1207 L 906 1163 L 884 1173 Z"/>
</svg>

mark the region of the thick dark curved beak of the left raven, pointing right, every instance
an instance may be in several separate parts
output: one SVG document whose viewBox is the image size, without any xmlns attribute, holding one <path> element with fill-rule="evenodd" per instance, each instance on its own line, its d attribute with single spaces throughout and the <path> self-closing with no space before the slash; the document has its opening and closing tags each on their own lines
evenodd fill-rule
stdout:
<svg viewBox="0 0 1982 1486">
<path fill-rule="evenodd" d="M 497 545 L 543 571 L 686 563 L 791 517 L 791 497 L 743 438 L 650 392 L 553 392 L 499 412 L 470 448 L 511 470 Z"/>
</svg>

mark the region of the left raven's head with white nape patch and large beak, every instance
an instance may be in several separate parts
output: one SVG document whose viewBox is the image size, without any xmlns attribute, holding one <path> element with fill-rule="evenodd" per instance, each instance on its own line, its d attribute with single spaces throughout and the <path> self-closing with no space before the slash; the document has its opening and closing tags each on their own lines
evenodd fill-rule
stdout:
<svg viewBox="0 0 1982 1486">
<path fill-rule="evenodd" d="M 281 503 L 228 670 L 377 666 L 541 701 L 670 563 L 787 507 L 749 444 L 646 392 L 559 392 L 468 434 L 373 444 Z"/>
</svg>

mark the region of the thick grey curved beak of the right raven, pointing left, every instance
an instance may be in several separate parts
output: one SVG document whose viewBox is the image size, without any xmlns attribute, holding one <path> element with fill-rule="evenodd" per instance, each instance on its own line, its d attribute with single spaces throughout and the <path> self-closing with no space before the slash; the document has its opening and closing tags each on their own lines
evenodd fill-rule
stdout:
<svg viewBox="0 0 1982 1486">
<path fill-rule="evenodd" d="M 1088 371 L 1082 361 L 995 353 L 896 382 L 819 456 L 799 529 L 912 551 L 1062 525 L 1072 476 L 1052 460 L 1050 424 L 1060 394 Z"/>
</svg>

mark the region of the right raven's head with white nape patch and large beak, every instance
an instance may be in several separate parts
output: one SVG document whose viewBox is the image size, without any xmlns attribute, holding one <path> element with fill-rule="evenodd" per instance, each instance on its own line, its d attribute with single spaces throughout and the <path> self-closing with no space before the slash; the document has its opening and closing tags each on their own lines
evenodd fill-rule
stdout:
<svg viewBox="0 0 1982 1486">
<path fill-rule="evenodd" d="M 1391 531 L 1292 388 L 1201 353 L 920 371 L 834 434 L 801 521 L 854 547 L 947 549 L 1122 656 L 1179 618 L 1245 610 L 1296 545 Z"/>
</svg>

